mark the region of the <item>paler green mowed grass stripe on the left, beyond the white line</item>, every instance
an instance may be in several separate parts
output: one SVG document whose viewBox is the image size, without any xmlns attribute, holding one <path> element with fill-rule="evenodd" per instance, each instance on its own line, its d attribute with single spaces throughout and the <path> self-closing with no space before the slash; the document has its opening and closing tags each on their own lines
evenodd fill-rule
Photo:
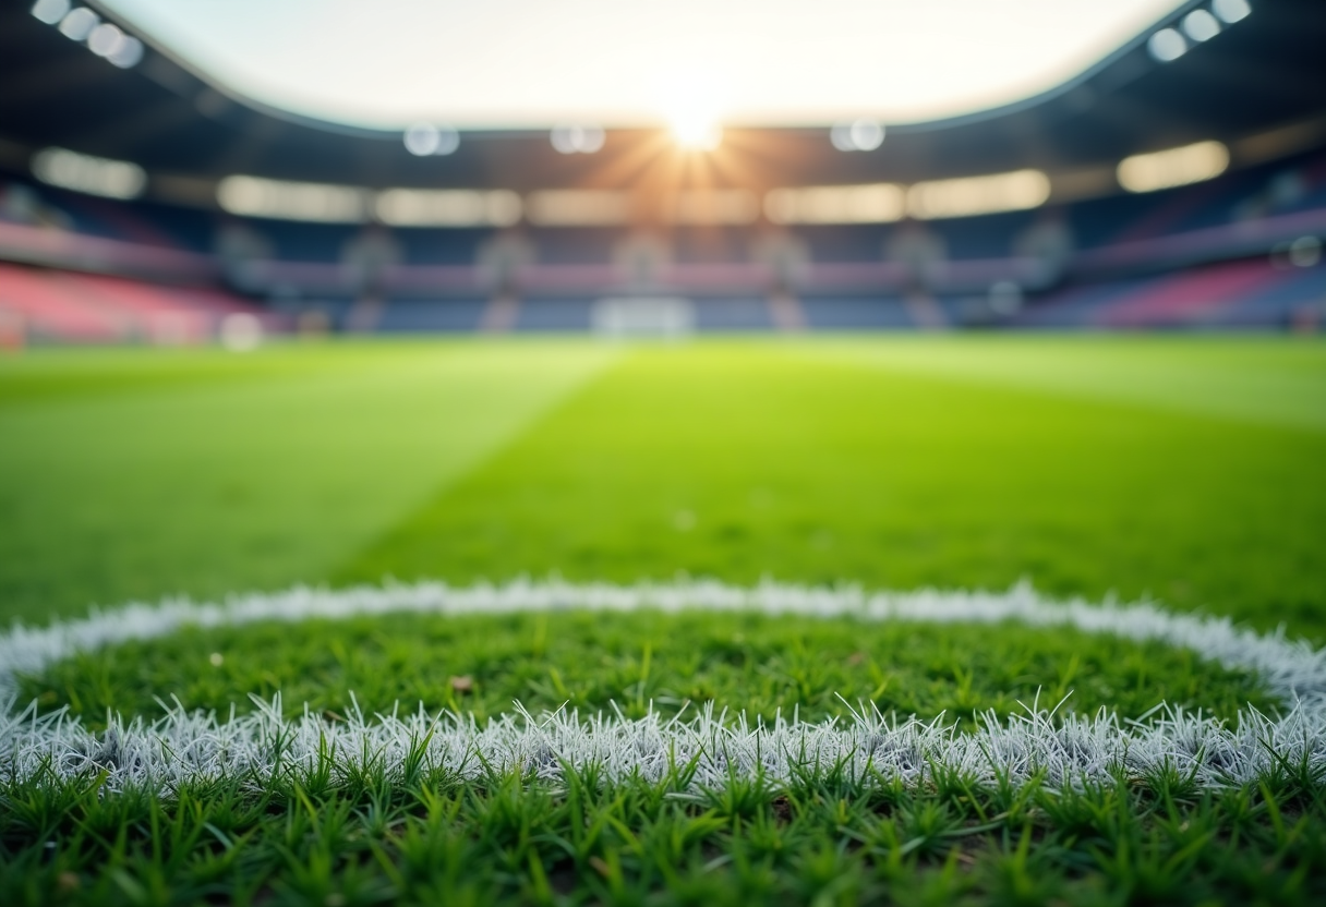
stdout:
<svg viewBox="0 0 1326 907">
<path fill-rule="evenodd" d="M 0 389 L 23 390 L 0 407 L 0 618 L 321 581 L 614 355 L 377 343 L 8 362 Z"/>
</svg>

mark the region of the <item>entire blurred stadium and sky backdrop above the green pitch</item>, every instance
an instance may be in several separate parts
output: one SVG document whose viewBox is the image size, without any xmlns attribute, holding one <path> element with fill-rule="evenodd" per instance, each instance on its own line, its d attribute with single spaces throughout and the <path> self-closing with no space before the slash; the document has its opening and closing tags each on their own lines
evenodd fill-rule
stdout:
<svg viewBox="0 0 1326 907">
<path fill-rule="evenodd" d="M 1326 5 L 0 3 L 0 345 L 1326 317 Z"/>
</svg>

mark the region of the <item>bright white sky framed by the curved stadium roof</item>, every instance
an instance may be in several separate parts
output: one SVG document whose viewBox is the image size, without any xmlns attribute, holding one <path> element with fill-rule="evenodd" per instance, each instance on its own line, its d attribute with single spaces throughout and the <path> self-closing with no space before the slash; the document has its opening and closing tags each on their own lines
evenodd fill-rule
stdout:
<svg viewBox="0 0 1326 907">
<path fill-rule="evenodd" d="M 951 117 L 1082 72 L 1183 0 L 103 0 L 215 81 L 382 127 Z"/>
</svg>

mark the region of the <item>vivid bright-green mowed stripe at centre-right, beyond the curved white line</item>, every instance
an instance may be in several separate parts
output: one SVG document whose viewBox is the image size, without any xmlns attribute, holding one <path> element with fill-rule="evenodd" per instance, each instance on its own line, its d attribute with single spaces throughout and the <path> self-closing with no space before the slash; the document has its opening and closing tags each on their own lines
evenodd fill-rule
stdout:
<svg viewBox="0 0 1326 907">
<path fill-rule="evenodd" d="M 639 347 L 335 577 L 1026 577 L 1326 633 L 1326 438 L 808 350 Z"/>
</svg>

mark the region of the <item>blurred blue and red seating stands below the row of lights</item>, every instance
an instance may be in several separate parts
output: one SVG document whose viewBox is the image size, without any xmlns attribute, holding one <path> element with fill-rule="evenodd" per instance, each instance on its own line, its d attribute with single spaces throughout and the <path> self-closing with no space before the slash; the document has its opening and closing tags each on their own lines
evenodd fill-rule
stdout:
<svg viewBox="0 0 1326 907">
<path fill-rule="evenodd" d="M 0 309 L 44 339 L 200 342 L 229 312 L 265 312 L 278 330 L 308 310 L 337 329 L 383 333 L 583 332 L 594 301 L 622 292 L 687 296 L 700 332 L 1278 329 L 1301 325 L 1326 300 L 1321 154 L 1061 206 L 1052 221 L 1040 212 L 931 221 L 937 252 L 920 271 L 896 252 L 908 224 L 788 228 L 802 259 L 786 274 L 761 251 L 768 227 L 678 229 L 643 282 L 614 263 L 619 231 L 530 228 L 518 260 L 501 265 L 518 298 L 504 317 L 491 310 L 497 278 L 485 271 L 501 231 L 383 228 L 389 247 L 369 251 L 382 310 L 358 325 L 350 313 L 367 280 L 353 260 L 363 257 L 359 227 L 80 199 L 20 179 L 5 186 L 12 196 L 23 202 L 0 207 L 0 256 L 9 261 Z M 224 248 L 228 235 L 239 252 Z M 1296 241 L 1301 252 L 1290 256 Z M 790 325 L 776 312 L 780 281 L 793 284 Z M 998 286 L 1016 290 L 1012 308 L 998 310 Z"/>
</svg>

